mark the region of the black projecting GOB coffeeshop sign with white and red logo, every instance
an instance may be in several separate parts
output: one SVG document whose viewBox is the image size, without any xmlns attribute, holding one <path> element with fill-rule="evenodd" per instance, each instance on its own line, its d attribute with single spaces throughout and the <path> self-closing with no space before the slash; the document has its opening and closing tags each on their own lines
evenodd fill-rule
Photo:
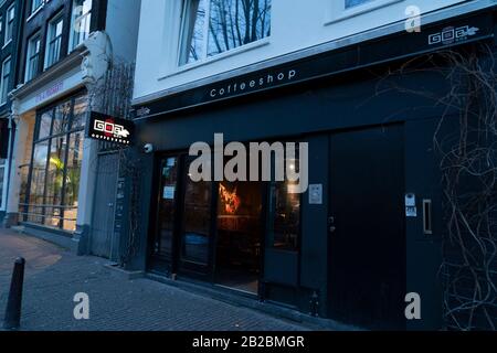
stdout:
<svg viewBox="0 0 497 353">
<path fill-rule="evenodd" d="M 91 139 L 129 146 L 133 143 L 135 124 L 92 111 L 86 136 Z"/>
</svg>

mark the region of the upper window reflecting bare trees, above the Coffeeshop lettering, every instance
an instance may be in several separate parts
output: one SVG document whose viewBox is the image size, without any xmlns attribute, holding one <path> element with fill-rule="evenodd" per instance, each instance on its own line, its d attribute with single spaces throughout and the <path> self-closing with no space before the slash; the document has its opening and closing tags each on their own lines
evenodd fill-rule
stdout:
<svg viewBox="0 0 497 353">
<path fill-rule="evenodd" d="M 179 64 L 231 51 L 271 35 L 272 0 L 186 0 Z"/>
</svg>

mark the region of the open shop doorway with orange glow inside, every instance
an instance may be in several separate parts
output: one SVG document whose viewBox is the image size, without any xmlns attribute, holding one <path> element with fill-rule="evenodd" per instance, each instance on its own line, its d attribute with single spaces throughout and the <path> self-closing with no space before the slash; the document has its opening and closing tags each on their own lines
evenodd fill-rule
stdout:
<svg viewBox="0 0 497 353">
<path fill-rule="evenodd" d="M 257 293 L 261 275 L 262 183 L 221 182 L 215 282 Z"/>
</svg>

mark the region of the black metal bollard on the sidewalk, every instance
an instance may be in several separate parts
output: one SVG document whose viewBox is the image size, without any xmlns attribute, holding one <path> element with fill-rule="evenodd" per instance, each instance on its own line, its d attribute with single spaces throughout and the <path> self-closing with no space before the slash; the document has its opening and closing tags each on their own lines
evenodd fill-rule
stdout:
<svg viewBox="0 0 497 353">
<path fill-rule="evenodd" d="M 7 302 L 3 329 L 18 330 L 21 325 L 22 285 L 24 281 L 25 259 L 18 258 L 14 263 L 12 281 L 10 282 L 9 300 Z"/>
</svg>

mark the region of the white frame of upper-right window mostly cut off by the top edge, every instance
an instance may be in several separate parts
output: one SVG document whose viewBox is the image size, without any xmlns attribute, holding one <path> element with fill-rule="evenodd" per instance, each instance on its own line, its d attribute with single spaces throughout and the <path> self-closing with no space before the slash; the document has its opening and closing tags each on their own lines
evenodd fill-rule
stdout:
<svg viewBox="0 0 497 353">
<path fill-rule="evenodd" d="M 372 0 L 346 9 L 346 0 L 329 0 L 330 6 L 328 7 L 325 24 L 332 24 L 402 1 L 404 0 Z"/>
</svg>

